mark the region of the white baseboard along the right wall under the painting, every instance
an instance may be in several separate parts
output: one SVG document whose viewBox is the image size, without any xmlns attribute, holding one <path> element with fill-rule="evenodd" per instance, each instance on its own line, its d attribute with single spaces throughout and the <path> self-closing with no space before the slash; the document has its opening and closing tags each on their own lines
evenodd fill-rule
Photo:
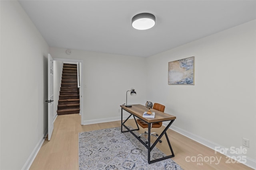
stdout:
<svg viewBox="0 0 256 170">
<path fill-rule="evenodd" d="M 167 126 L 168 123 L 164 122 L 163 125 Z M 210 149 L 216 150 L 216 152 L 220 151 L 221 154 L 224 154 L 225 156 L 228 156 L 234 160 L 237 160 L 238 162 L 241 162 L 242 164 L 245 164 L 246 166 L 249 166 L 250 168 L 256 169 L 256 160 L 248 158 L 246 155 L 233 152 L 235 149 L 233 149 L 233 151 L 232 151 L 232 150 L 227 149 L 223 146 L 220 146 L 212 141 L 209 141 L 209 140 L 204 139 L 198 135 L 195 135 L 193 133 L 185 131 L 184 129 L 176 127 L 174 125 L 170 126 L 169 129 L 172 129 L 172 130 L 176 131 L 177 133 L 180 133 L 181 135 L 184 135 L 184 136 L 192 139 L 193 141 L 196 141 L 206 147 L 209 147 Z"/>
</svg>

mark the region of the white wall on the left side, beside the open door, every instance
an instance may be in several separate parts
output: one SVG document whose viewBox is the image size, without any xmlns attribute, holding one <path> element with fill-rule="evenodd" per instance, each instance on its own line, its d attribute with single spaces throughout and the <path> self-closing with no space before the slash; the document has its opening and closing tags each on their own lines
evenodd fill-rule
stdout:
<svg viewBox="0 0 256 170">
<path fill-rule="evenodd" d="M 0 1 L 0 6 L 0 169 L 20 170 L 28 168 L 26 161 L 47 129 L 49 47 L 18 1 Z"/>
</svg>

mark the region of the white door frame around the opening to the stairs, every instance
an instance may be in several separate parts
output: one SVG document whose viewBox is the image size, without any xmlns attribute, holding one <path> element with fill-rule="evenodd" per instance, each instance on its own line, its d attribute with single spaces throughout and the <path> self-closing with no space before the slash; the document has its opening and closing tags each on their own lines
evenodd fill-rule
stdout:
<svg viewBox="0 0 256 170">
<path fill-rule="evenodd" d="M 81 63 L 81 82 L 80 82 L 80 113 L 81 113 L 81 125 L 83 125 L 84 120 L 84 97 L 82 97 L 82 94 L 84 92 L 83 89 L 83 72 L 84 72 L 84 63 L 83 60 L 76 60 L 76 59 L 61 59 L 61 58 L 53 58 L 53 61 L 63 61 L 63 62 L 72 62 L 72 63 Z"/>
</svg>

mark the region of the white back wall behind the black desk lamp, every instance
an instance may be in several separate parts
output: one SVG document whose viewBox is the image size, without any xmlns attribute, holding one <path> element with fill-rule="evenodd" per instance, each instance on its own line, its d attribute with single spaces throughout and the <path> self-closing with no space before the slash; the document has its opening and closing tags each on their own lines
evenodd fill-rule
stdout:
<svg viewBox="0 0 256 170">
<path fill-rule="evenodd" d="M 145 58 L 95 53 L 50 47 L 54 58 L 82 60 L 84 65 L 82 97 L 83 124 L 120 120 L 120 105 L 126 102 L 126 91 L 134 88 L 135 97 L 128 95 L 128 104 L 146 103 Z"/>
</svg>

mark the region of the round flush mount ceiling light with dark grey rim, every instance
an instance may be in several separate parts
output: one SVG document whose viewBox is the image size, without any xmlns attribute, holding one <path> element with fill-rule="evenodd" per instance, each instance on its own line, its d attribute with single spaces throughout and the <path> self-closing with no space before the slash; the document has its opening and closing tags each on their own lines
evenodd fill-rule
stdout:
<svg viewBox="0 0 256 170">
<path fill-rule="evenodd" d="M 132 27 L 139 30 L 152 28 L 156 23 L 156 17 L 150 13 L 141 13 L 132 17 Z"/>
</svg>

